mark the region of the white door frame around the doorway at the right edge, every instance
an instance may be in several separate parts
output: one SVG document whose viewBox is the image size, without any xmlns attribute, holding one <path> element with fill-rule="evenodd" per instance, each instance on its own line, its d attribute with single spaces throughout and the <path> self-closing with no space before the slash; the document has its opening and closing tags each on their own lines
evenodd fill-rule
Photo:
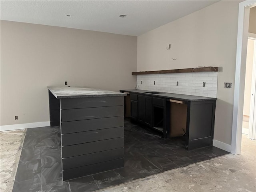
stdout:
<svg viewBox="0 0 256 192">
<path fill-rule="evenodd" d="M 254 4 L 254 0 L 240 2 L 238 10 L 236 73 L 234 82 L 233 124 L 231 139 L 231 153 L 235 155 L 241 153 L 249 13 L 250 8 L 253 7 Z"/>
</svg>

